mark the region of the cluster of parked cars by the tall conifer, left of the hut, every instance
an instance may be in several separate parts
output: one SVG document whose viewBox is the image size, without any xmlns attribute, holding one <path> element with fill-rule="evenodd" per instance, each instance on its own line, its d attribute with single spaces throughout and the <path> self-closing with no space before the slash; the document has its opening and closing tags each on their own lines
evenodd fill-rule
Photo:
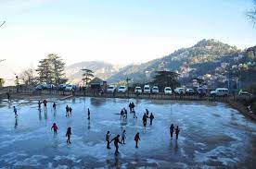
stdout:
<svg viewBox="0 0 256 169">
<path fill-rule="evenodd" d="M 36 91 L 43 90 L 58 90 L 58 91 L 75 91 L 77 89 L 76 85 L 71 84 L 60 84 L 55 86 L 54 84 L 40 84 L 35 87 Z"/>
</svg>

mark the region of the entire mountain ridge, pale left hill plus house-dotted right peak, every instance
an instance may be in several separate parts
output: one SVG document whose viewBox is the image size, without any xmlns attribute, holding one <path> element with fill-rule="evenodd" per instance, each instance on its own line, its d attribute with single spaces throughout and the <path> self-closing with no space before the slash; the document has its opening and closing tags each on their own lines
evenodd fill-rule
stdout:
<svg viewBox="0 0 256 169">
<path fill-rule="evenodd" d="M 124 81 L 131 78 L 134 83 L 146 83 L 154 77 L 155 71 L 172 70 L 182 76 L 198 77 L 215 72 L 223 63 L 233 63 L 238 54 L 244 54 L 236 46 L 216 40 L 201 40 L 195 45 L 181 48 L 158 59 L 142 64 L 115 66 L 104 62 L 81 62 L 67 66 L 66 72 L 70 81 L 78 82 L 82 78 L 82 68 L 95 71 L 95 76 L 108 83 Z"/>
</svg>

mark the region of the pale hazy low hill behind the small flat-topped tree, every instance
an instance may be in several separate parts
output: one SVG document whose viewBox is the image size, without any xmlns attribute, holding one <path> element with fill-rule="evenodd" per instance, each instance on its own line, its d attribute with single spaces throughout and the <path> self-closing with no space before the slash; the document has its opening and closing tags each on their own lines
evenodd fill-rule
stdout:
<svg viewBox="0 0 256 169">
<path fill-rule="evenodd" d="M 118 66 L 111 65 L 105 62 L 80 62 L 66 67 L 66 75 L 70 82 L 78 83 L 82 78 L 82 68 L 88 68 L 95 72 L 95 76 L 102 79 L 107 79 L 116 74 L 119 70 Z"/>
</svg>

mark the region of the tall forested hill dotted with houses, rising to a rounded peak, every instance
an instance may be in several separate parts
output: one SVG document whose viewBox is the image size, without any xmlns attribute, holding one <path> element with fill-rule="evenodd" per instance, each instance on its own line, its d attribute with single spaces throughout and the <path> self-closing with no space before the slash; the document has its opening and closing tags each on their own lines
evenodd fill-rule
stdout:
<svg viewBox="0 0 256 169">
<path fill-rule="evenodd" d="M 129 77 L 134 82 L 151 80 L 156 70 L 179 71 L 185 64 L 194 69 L 194 74 L 206 74 L 215 70 L 223 62 L 233 60 L 240 51 L 236 46 L 230 46 L 215 40 L 202 40 L 189 48 L 179 49 L 173 54 L 166 55 L 141 65 L 125 66 L 113 76 L 109 82 L 117 82 Z"/>
</svg>

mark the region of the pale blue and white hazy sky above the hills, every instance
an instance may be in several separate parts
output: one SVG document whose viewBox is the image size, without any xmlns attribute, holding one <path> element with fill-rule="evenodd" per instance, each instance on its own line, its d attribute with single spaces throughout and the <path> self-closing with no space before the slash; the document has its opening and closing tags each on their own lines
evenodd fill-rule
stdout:
<svg viewBox="0 0 256 169">
<path fill-rule="evenodd" d="M 56 53 L 67 65 L 141 63 L 217 39 L 256 44 L 252 0 L 0 0 L 0 77 Z"/>
</svg>

